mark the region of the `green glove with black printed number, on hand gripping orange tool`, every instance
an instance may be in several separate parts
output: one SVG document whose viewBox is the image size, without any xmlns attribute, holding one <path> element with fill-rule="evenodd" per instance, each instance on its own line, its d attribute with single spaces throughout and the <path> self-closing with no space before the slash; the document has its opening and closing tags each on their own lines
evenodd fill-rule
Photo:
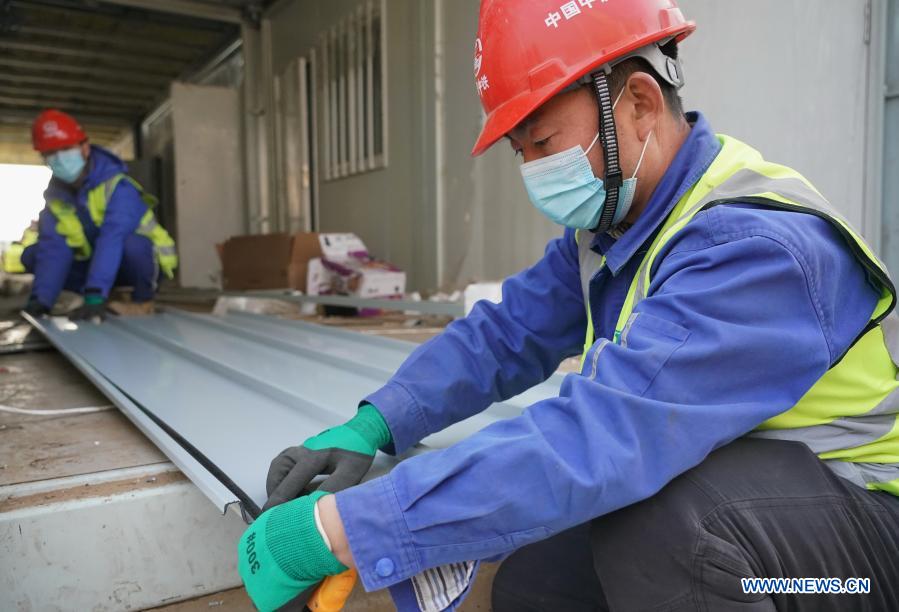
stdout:
<svg viewBox="0 0 899 612">
<path fill-rule="evenodd" d="M 346 571 L 315 524 L 315 503 L 325 495 L 316 491 L 262 513 L 240 538 L 237 568 L 262 612 L 305 603 L 325 577 Z"/>
</svg>

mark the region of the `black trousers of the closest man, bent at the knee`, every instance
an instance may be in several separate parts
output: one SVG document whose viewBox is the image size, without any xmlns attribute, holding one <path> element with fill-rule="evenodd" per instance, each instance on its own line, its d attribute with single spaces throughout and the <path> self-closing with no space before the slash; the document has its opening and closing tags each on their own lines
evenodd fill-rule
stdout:
<svg viewBox="0 0 899 612">
<path fill-rule="evenodd" d="M 752 577 L 870 578 L 870 593 L 745 594 Z M 743 438 L 648 500 L 516 551 L 493 610 L 899 611 L 899 497 L 803 444 Z"/>
</svg>

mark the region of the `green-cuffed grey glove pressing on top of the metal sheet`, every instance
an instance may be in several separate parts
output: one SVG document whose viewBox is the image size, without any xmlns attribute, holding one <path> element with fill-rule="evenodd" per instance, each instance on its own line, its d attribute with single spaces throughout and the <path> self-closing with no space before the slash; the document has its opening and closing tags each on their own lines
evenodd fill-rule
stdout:
<svg viewBox="0 0 899 612">
<path fill-rule="evenodd" d="M 371 467 L 375 453 L 392 440 L 381 413 L 363 404 L 355 417 L 303 442 L 285 449 L 268 469 L 265 490 L 268 501 L 263 510 L 295 499 L 312 480 L 328 474 L 320 491 L 337 493 L 359 484 Z"/>
</svg>

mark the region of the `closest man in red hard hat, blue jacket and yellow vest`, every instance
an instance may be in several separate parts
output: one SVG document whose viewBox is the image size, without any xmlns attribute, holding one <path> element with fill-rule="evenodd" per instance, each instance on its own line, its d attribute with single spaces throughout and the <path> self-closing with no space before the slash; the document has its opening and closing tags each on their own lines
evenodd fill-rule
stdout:
<svg viewBox="0 0 899 612">
<path fill-rule="evenodd" d="M 694 27 L 671 0 L 482 2 L 474 153 L 506 136 L 567 229 L 273 461 L 239 549 L 262 609 L 345 567 L 451 608 L 510 554 L 497 612 L 899 609 L 895 289 L 807 180 L 684 114 Z M 344 489 L 575 354 L 558 397 Z M 781 577 L 834 580 L 742 582 Z"/>
</svg>

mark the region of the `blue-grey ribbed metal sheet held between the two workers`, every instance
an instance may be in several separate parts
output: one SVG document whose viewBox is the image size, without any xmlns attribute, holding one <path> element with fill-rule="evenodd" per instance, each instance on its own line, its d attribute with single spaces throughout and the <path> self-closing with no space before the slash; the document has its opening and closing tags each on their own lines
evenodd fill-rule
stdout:
<svg viewBox="0 0 899 612">
<path fill-rule="evenodd" d="M 340 424 L 416 345 L 248 314 L 178 311 L 103 325 L 32 320 L 223 509 L 265 502 L 271 459 Z M 562 377 L 430 436 L 442 448 L 558 395 Z M 374 474 L 396 459 L 379 454 Z"/>
</svg>

